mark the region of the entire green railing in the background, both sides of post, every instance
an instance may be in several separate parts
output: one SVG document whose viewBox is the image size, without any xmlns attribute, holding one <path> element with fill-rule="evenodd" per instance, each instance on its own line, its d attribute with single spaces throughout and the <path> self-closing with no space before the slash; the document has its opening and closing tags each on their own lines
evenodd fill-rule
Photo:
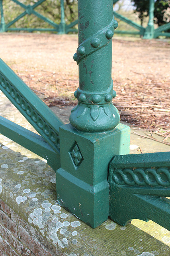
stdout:
<svg viewBox="0 0 170 256">
<path fill-rule="evenodd" d="M 50 20 L 49 18 L 46 18 L 39 12 L 36 12 L 35 8 L 37 6 L 40 6 L 44 1 L 46 0 L 39 0 L 37 3 L 33 5 L 25 5 L 21 3 L 18 0 L 11 0 L 21 6 L 24 11 L 16 17 L 14 20 L 10 21 L 8 24 L 5 23 L 4 19 L 4 12 L 3 12 L 3 1 L 0 0 L 0 10 L 1 10 L 1 23 L 0 23 L 0 32 L 8 32 L 8 31 L 27 31 L 27 32 L 33 32 L 33 31 L 47 31 L 47 32 L 57 32 L 58 34 L 68 34 L 69 32 L 77 32 L 78 30 L 74 28 L 76 24 L 78 24 L 78 20 L 75 20 L 71 22 L 70 24 L 66 24 L 65 21 L 65 14 L 64 14 L 64 0 L 61 1 L 61 22 L 60 24 L 55 23 L 53 20 Z M 113 3 L 116 4 L 119 0 L 113 0 Z M 158 28 L 154 28 L 154 0 L 150 0 L 149 2 L 149 22 L 147 27 L 143 27 L 140 24 L 137 24 L 136 22 L 130 20 L 129 18 L 119 14 L 118 12 L 113 11 L 113 14 L 115 18 L 118 18 L 122 20 L 123 22 L 127 23 L 128 25 L 132 26 L 136 29 L 134 30 L 117 30 L 115 33 L 117 34 L 131 34 L 131 35 L 140 35 L 144 39 L 152 39 L 152 38 L 158 38 L 159 36 L 166 36 L 170 37 L 170 33 L 166 32 L 170 29 L 170 22 L 167 24 L 164 24 L 162 26 L 159 26 Z M 12 27 L 13 24 L 15 24 L 18 20 L 23 18 L 25 15 L 35 15 L 44 22 L 50 24 L 53 26 L 53 28 L 14 28 Z"/>
</svg>

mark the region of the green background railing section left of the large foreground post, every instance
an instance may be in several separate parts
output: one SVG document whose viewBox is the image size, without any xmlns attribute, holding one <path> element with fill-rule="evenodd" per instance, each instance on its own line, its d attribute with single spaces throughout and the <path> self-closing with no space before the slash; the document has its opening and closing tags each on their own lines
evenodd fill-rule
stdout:
<svg viewBox="0 0 170 256">
<path fill-rule="evenodd" d="M 58 32 L 58 34 L 67 34 L 69 32 L 77 32 L 77 29 L 73 28 L 77 24 L 77 20 L 70 24 L 66 24 L 65 22 L 65 15 L 64 15 L 64 0 L 61 0 L 61 22 L 60 24 L 56 24 L 49 18 L 46 18 L 39 12 L 36 12 L 34 9 L 41 5 L 46 0 L 39 0 L 37 3 L 33 5 L 25 5 L 19 2 L 18 0 L 11 0 L 21 6 L 24 11 L 16 17 L 14 20 L 9 22 L 8 24 L 5 24 L 4 20 L 4 12 L 3 12 L 3 0 L 0 0 L 0 10 L 1 10 L 1 24 L 0 24 L 0 32 L 7 32 L 7 31 L 27 31 L 27 32 L 33 32 L 33 31 L 48 31 L 48 32 Z M 51 25 L 53 28 L 12 28 L 11 26 L 15 24 L 18 20 L 23 18 L 25 15 L 35 15 L 44 22 Z"/>
</svg>

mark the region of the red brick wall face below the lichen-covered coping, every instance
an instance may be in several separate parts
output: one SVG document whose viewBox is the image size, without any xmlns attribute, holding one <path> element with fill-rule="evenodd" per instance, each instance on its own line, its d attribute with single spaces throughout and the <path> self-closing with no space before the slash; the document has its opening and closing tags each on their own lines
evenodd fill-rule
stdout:
<svg viewBox="0 0 170 256">
<path fill-rule="evenodd" d="M 51 244 L 0 200 L 0 256 L 56 256 Z"/>
</svg>

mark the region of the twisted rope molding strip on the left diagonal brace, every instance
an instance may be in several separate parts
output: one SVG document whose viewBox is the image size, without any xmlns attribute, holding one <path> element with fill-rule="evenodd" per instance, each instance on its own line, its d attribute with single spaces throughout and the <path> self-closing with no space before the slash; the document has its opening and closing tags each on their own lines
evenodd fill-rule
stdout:
<svg viewBox="0 0 170 256">
<path fill-rule="evenodd" d="M 60 141 L 59 135 L 45 122 L 42 116 L 40 116 L 36 109 L 30 106 L 29 102 L 23 96 L 21 96 L 20 92 L 14 88 L 10 82 L 0 73 L 0 89 L 4 94 L 8 94 L 10 98 L 12 98 L 12 102 L 17 104 L 18 109 L 20 109 L 21 113 L 31 118 L 32 124 L 34 127 L 37 127 L 38 130 L 43 133 L 47 139 L 53 144 L 57 150 L 60 149 Z"/>
</svg>

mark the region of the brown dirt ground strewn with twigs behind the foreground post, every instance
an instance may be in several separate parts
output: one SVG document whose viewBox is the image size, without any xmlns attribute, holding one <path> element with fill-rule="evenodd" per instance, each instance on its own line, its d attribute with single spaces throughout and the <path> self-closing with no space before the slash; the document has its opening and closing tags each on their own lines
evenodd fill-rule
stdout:
<svg viewBox="0 0 170 256">
<path fill-rule="evenodd" d="M 48 106 L 75 105 L 76 35 L 0 34 L 0 58 Z M 170 137 L 170 40 L 114 37 L 113 104 L 121 120 Z M 168 143 L 169 144 L 169 143 Z"/>
</svg>

